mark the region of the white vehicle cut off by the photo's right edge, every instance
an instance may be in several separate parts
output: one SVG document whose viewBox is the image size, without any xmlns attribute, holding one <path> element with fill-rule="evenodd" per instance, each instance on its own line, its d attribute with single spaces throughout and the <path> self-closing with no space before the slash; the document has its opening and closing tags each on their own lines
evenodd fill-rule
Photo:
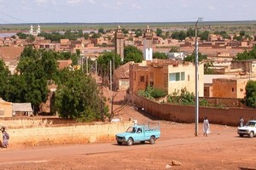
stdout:
<svg viewBox="0 0 256 170">
<path fill-rule="evenodd" d="M 237 127 L 237 133 L 240 137 L 247 135 L 253 138 L 256 135 L 256 121 L 248 121 L 244 127 Z"/>
</svg>

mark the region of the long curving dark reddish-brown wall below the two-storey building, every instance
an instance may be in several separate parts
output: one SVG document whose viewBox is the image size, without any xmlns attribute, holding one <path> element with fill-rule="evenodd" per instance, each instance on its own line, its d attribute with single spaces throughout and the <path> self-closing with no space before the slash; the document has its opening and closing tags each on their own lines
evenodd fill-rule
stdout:
<svg viewBox="0 0 256 170">
<path fill-rule="evenodd" d="M 131 94 L 132 95 L 132 94 Z M 195 106 L 159 104 L 138 96 L 131 97 L 137 107 L 144 108 L 149 115 L 172 122 L 195 122 Z M 207 116 L 209 122 L 237 126 L 242 116 L 245 121 L 256 119 L 256 110 L 249 108 L 199 108 L 199 122 Z"/>
</svg>

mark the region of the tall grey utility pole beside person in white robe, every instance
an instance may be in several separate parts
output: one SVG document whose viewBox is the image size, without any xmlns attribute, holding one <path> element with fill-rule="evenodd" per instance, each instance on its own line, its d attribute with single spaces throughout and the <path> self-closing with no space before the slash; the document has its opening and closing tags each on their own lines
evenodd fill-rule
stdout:
<svg viewBox="0 0 256 170">
<path fill-rule="evenodd" d="M 195 136 L 198 136 L 198 40 L 197 40 L 197 23 L 201 18 L 195 22 Z"/>
</svg>

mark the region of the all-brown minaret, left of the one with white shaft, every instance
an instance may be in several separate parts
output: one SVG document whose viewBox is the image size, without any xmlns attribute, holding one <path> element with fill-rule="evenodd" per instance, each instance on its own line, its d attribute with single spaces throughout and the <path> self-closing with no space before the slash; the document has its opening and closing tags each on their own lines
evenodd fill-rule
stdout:
<svg viewBox="0 0 256 170">
<path fill-rule="evenodd" d="M 121 57 L 121 60 L 124 60 L 124 34 L 120 28 L 115 31 L 115 53 L 119 54 Z"/>
</svg>

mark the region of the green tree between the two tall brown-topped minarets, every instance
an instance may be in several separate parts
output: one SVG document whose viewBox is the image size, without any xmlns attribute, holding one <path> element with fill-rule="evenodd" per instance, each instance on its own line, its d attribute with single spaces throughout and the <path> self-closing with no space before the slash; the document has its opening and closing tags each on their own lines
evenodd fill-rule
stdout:
<svg viewBox="0 0 256 170">
<path fill-rule="evenodd" d="M 135 46 L 125 46 L 124 49 L 124 63 L 134 61 L 140 63 L 143 61 L 143 52 Z"/>
</svg>

